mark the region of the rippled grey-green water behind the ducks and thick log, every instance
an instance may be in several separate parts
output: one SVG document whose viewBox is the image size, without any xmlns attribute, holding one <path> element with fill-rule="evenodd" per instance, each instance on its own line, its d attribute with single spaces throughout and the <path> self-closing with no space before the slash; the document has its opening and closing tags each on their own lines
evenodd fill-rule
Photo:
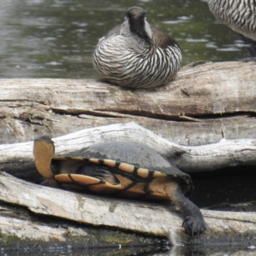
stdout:
<svg viewBox="0 0 256 256">
<path fill-rule="evenodd" d="M 134 5 L 179 42 L 183 65 L 248 56 L 248 44 L 202 0 L 1 0 L 0 78 L 96 78 L 97 41 Z"/>
</svg>

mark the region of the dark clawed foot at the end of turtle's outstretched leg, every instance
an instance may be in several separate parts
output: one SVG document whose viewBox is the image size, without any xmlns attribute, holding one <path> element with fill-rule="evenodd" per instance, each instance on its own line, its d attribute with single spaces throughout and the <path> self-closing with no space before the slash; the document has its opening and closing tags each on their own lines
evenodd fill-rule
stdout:
<svg viewBox="0 0 256 256">
<path fill-rule="evenodd" d="M 206 229 L 204 218 L 201 216 L 186 216 L 182 227 L 192 237 L 202 234 Z"/>
</svg>

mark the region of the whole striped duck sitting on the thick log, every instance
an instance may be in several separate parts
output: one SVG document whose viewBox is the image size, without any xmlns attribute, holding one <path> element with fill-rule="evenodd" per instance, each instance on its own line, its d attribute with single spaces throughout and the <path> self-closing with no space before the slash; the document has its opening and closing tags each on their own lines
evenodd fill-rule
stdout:
<svg viewBox="0 0 256 256">
<path fill-rule="evenodd" d="M 110 83 L 154 88 L 172 81 L 180 68 L 180 47 L 163 30 L 150 26 L 140 7 L 131 7 L 125 22 L 99 40 L 93 66 Z"/>
</svg>

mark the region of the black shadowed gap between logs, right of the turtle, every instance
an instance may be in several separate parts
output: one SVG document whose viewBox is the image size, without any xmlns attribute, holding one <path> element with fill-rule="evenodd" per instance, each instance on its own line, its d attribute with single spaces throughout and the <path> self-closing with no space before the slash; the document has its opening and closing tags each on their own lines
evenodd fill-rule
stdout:
<svg viewBox="0 0 256 256">
<path fill-rule="evenodd" d="M 195 189 L 189 197 L 198 207 L 256 211 L 255 166 L 233 166 L 190 175 Z"/>
</svg>

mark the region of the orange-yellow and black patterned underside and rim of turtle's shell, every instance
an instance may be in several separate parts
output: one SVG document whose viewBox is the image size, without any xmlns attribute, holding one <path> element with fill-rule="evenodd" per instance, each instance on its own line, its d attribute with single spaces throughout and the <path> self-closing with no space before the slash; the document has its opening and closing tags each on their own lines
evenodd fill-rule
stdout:
<svg viewBox="0 0 256 256">
<path fill-rule="evenodd" d="M 52 173 L 52 179 L 64 188 L 76 188 L 128 198 L 169 199 L 166 193 L 154 191 L 150 184 L 154 180 L 180 179 L 177 175 L 152 171 L 133 164 L 120 163 L 111 159 L 95 159 L 90 157 L 54 157 L 52 163 L 58 166 L 58 174 Z M 86 173 L 86 166 L 90 163 L 95 173 Z M 93 166 L 94 165 L 94 166 Z M 104 175 L 99 177 L 95 165 L 106 166 Z M 72 166 L 72 168 L 70 168 Z M 81 173 L 81 170 L 83 172 Z M 102 170 L 102 169 L 101 169 Z M 182 178 L 186 182 L 186 190 L 191 189 L 191 181 L 186 175 Z M 54 182 L 50 180 L 50 184 Z M 161 184 L 159 184 L 161 186 Z"/>
</svg>

